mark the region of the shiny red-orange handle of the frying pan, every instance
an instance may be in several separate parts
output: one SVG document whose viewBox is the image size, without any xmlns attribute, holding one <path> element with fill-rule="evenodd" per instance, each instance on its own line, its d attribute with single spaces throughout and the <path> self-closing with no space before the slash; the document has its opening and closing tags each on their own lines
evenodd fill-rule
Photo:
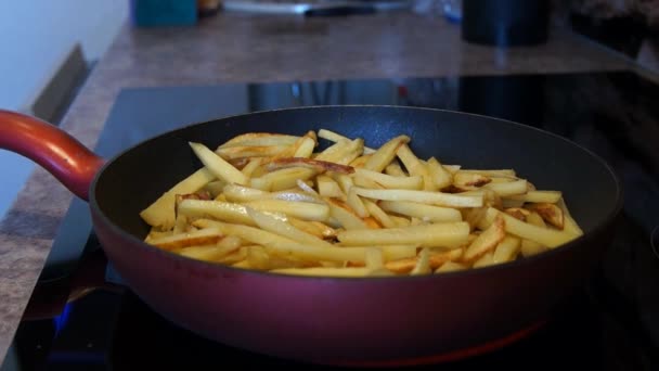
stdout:
<svg viewBox="0 0 659 371">
<path fill-rule="evenodd" d="M 56 126 L 17 112 L 0 110 L 0 149 L 41 165 L 78 197 L 89 187 L 103 158 Z"/>
</svg>

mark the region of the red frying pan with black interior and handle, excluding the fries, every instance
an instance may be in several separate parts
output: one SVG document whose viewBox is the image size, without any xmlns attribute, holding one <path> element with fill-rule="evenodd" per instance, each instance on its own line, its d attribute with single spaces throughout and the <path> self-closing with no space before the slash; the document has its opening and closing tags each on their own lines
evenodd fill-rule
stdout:
<svg viewBox="0 0 659 371">
<path fill-rule="evenodd" d="M 584 235 L 500 266 L 422 277 L 310 278 L 189 259 L 142 242 L 140 210 L 244 132 L 331 129 L 370 146 L 405 133 L 419 157 L 513 168 L 560 190 Z M 418 107 L 318 106 L 192 124 L 102 159 L 56 127 L 0 112 L 0 148 L 23 154 L 89 201 L 94 231 L 128 286 L 177 325 L 225 345 L 325 364 L 409 364 L 468 357 L 551 318 L 598 263 L 622 205 L 616 174 L 561 137 L 491 117 Z"/>
</svg>

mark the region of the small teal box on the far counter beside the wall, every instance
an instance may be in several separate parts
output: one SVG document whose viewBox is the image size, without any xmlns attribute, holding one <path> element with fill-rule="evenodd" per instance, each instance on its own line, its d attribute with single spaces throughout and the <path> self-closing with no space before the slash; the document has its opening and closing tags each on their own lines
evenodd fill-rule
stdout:
<svg viewBox="0 0 659 371">
<path fill-rule="evenodd" d="M 196 0 L 130 0 L 131 20 L 139 27 L 188 26 L 197 22 Z"/>
</svg>

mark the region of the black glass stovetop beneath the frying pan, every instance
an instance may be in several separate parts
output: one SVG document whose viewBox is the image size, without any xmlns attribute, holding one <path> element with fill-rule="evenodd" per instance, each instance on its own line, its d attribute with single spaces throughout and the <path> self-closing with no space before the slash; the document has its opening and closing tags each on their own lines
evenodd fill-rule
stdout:
<svg viewBox="0 0 659 371">
<path fill-rule="evenodd" d="M 599 269 L 531 335 L 486 355 L 419 369 L 657 370 L 658 97 L 659 86 L 626 72 L 126 89 L 95 152 L 109 157 L 191 123 L 325 104 L 465 111 L 567 137 L 604 157 L 623 182 L 624 208 Z M 87 204 L 75 200 L 15 335 L 22 370 L 330 369 L 230 348 L 178 328 L 122 286 L 102 254 Z"/>
</svg>

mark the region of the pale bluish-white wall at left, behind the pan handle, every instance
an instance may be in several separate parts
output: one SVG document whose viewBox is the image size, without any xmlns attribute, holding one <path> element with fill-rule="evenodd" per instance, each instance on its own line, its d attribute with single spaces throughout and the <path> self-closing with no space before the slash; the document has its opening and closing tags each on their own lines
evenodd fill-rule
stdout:
<svg viewBox="0 0 659 371">
<path fill-rule="evenodd" d="M 98 60 L 128 17 L 129 0 L 0 0 L 0 108 L 27 112 L 80 43 Z M 0 217 L 34 165 L 0 150 Z"/>
</svg>

